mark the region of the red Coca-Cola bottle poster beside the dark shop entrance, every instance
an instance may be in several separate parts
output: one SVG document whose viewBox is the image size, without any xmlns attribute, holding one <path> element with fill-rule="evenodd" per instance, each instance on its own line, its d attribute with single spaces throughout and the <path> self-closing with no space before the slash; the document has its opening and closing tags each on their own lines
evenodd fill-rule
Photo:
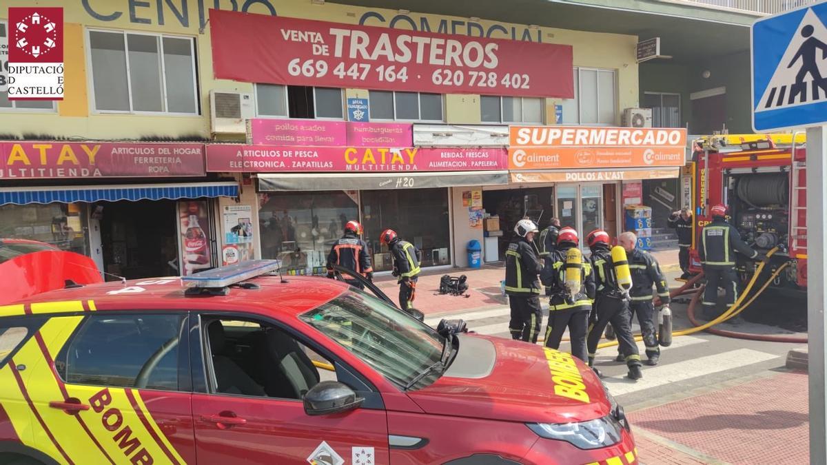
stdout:
<svg viewBox="0 0 827 465">
<path fill-rule="evenodd" d="M 208 203 L 203 200 L 184 200 L 178 203 L 181 276 L 213 267 L 213 228 L 208 212 Z"/>
</svg>

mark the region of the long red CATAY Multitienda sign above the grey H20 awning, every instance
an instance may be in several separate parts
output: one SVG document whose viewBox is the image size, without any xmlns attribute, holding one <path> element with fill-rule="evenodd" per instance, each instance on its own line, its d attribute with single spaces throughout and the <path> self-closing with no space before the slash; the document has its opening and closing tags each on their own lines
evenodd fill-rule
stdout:
<svg viewBox="0 0 827 465">
<path fill-rule="evenodd" d="M 504 148 L 207 146 L 210 172 L 505 170 L 506 159 Z"/>
</svg>

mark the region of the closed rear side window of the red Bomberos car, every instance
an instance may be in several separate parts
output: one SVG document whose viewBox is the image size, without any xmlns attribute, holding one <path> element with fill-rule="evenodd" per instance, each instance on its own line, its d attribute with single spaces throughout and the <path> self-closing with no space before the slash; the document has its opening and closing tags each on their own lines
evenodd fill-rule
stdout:
<svg viewBox="0 0 827 465">
<path fill-rule="evenodd" d="M 55 368 L 68 384 L 177 391 L 183 323 L 181 314 L 89 316 Z"/>
</svg>

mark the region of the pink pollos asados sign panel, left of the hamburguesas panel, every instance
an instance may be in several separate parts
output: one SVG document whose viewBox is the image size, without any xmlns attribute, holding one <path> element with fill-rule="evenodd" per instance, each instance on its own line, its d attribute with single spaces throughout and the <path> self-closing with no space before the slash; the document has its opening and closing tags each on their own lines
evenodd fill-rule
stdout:
<svg viewBox="0 0 827 465">
<path fill-rule="evenodd" d="M 343 121 L 251 119 L 247 141 L 269 146 L 347 146 Z"/>
</svg>

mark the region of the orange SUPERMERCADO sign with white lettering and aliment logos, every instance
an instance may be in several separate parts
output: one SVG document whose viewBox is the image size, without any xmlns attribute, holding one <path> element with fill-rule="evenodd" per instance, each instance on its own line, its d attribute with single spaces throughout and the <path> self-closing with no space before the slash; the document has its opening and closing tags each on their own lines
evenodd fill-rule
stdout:
<svg viewBox="0 0 827 465">
<path fill-rule="evenodd" d="M 682 166 L 686 129 L 633 127 L 509 128 L 512 170 Z"/>
</svg>

